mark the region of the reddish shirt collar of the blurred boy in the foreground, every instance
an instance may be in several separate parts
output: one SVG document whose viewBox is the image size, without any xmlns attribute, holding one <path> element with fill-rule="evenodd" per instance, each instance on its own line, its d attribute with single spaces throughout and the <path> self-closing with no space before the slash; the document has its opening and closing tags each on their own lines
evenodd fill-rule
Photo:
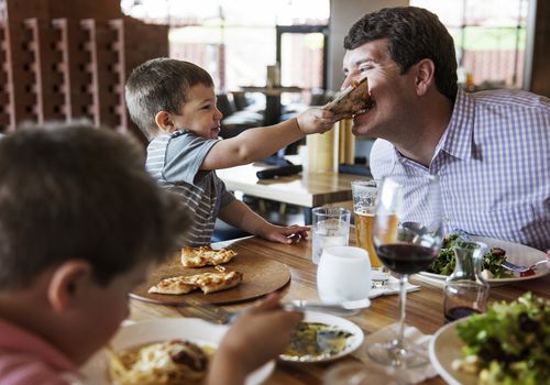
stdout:
<svg viewBox="0 0 550 385">
<path fill-rule="evenodd" d="M 36 334 L 0 319 L 0 349 L 36 356 L 59 372 L 77 372 L 75 364 L 59 350 Z"/>
</svg>

